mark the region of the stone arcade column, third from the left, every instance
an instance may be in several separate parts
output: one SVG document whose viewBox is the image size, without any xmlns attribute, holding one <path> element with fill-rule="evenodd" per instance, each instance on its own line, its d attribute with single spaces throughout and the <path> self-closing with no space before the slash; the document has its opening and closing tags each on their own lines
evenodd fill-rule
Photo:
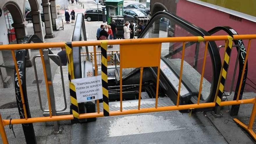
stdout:
<svg viewBox="0 0 256 144">
<path fill-rule="evenodd" d="M 45 16 L 45 38 L 54 38 L 51 24 L 51 11 L 49 0 L 42 0 L 43 12 Z"/>
</svg>

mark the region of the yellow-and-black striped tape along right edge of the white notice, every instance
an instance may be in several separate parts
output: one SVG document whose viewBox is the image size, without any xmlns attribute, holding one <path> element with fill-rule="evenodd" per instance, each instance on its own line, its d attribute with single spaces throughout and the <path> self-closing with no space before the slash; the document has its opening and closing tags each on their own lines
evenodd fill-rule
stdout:
<svg viewBox="0 0 256 144">
<path fill-rule="evenodd" d="M 101 40 L 101 77 L 103 94 L 103 114 L 109 116 L 109 90 L 108 90 L 108 60 L 107 60 L 107 41 Z"/>
</svg>

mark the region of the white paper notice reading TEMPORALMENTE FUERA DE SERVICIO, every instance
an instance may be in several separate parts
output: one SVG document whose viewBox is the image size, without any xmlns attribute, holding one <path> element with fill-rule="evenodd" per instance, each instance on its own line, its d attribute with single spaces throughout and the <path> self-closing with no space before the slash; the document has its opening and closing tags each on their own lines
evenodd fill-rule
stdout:
<svg viewBox="0 0 256 144">
<path fill-rule="evenodd" d="M 71 82 L 76 87 L 78 103 L 89 102 L 103 98 L 101 75 L 96 77 L 72 79 Z"/>
</svg>

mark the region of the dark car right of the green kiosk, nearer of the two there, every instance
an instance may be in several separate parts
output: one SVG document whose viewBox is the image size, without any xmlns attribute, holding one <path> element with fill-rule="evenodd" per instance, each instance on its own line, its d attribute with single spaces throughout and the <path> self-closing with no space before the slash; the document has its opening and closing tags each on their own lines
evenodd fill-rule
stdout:
<svg viewBox="0 0 256 144">
<path fill-rule="evenodd" d="M 147 15 L 145 15 L 144 12 L 141 12 L 140 10 L 137 10 L 137 9 L 124 9 L 123 10 L 124 12 L 124 18 L 125 18 L 125 21 L 135 21 L 136 18 L 135 17 L 146 17 Z"/>
</svg>

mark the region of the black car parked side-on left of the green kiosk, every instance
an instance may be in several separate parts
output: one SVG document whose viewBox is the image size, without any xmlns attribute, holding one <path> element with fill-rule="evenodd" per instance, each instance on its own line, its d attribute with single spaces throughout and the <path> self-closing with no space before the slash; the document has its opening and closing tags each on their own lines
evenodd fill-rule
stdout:
<svg viewBox="0 0 256 144">
<path fill-rule="evenodd" d="M 102 10 L 97 9 L 88 9 L 84 12 L 84 19 L 87 19 L 88 22 L 90 21 L 97 21 L 98 20 L 98 13 L 99 13 L 99 21 L 102 21 Z"/>
</svg>

